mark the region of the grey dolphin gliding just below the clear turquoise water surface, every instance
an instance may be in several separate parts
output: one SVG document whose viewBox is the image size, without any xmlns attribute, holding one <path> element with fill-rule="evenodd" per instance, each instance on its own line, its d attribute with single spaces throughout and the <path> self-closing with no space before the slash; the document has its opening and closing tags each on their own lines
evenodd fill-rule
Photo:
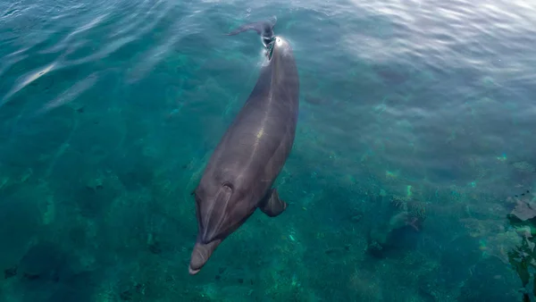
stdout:
<svg viewBox="0 0 536 302">
<path fill-rule="evenodd" d="M 253 24 L 256 25 L 237 30 L 262 33 L 267 23 Z M 268 62 L 255 88 L 192 192 L 196 199 L 197 240 L 188 267 L 190 274 L 198 273 L 222 240 L 246 222 L 257 207 L 271 217 L 287 208 L 272 184 L 294 142 L 299 79 L 289 42 L 272 37 L 269 46 Z"/>
</svg>

